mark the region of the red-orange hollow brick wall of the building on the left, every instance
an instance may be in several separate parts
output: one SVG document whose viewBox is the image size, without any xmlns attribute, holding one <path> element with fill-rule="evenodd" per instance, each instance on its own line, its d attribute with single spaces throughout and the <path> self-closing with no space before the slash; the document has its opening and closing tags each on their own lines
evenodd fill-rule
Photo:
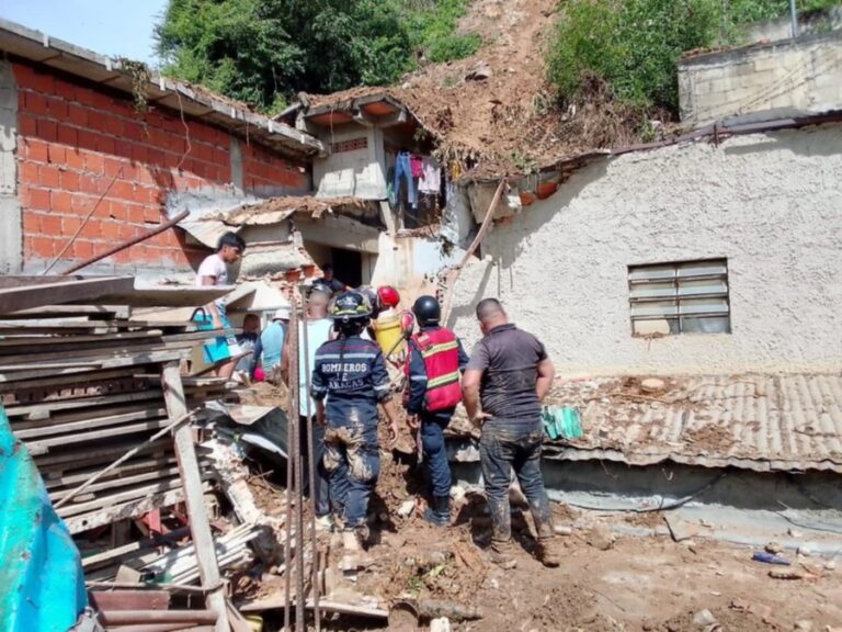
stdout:
<svg viewBox="0 0 842 632">
<path fill-rule="evenodd" d="M 24 269 L 58 256 L 94 207 L 62 260 L 101 253 L 166 221 L 168 196 L 230 195 L 227 132 L 168 110 L 138 114 L 127 98 L 30 66 L 15 64 L 14 76 Z M 242 140 L 241 155 L 247 192 L 307 187 L 304 169 L 270 150 Z M 116 270 L 186 271 L 205 253 L 170 229 L 105 262 Z"/>
</svg>

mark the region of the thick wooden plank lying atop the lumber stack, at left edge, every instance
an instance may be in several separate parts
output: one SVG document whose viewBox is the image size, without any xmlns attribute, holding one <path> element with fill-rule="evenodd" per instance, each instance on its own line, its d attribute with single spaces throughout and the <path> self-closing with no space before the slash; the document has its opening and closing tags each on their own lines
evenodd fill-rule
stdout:
<svg viewBox="0 0 842 632">
<path fill-rule="evenodd" d="M 102 279 L 69 280 L 43 285 L 22 285 L 0 289 L 0 314 L 20 312 L 42 305 L 60 305 L 70 302 L 95 302 L 107 294 L 132 292 L 133 276 L 105 276 Z"/>
</svg>

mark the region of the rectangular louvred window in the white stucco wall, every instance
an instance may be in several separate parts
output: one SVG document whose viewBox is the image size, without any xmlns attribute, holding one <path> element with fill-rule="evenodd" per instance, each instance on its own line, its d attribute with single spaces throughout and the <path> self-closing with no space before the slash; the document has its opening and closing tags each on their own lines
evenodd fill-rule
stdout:
<svg viewBox="0 0 842 632">
<path fill-rule="evenodd" d="M 728 261 L 628 267 L 632 335 L 730 334 Z"/>
</svg>

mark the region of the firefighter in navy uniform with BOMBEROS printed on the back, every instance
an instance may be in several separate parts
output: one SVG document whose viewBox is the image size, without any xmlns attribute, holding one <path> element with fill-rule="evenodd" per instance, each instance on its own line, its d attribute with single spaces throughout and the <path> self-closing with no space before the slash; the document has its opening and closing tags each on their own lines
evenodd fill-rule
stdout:
<svg viewBox="0 0 842 632">
<path fill-rule="evenodd" d="M 359 550 L 368 540 L 368 499 L 379 474 L 378 404 L 389 421 L 390 441 L 398 436 L 383 352 L 360 337 L 371 315 L 359 292 L 340 294 L 331 309 L 339 337 L 319 347 L 312 369 L 317 420 L 326 425 L 330 500 L 344 527 L 348 551 Z"/>
</svg>

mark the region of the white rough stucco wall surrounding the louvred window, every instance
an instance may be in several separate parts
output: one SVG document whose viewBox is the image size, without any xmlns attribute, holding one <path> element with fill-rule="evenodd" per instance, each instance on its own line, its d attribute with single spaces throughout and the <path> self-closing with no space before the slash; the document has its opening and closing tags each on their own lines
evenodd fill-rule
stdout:
<svg viewBox="0 0 842 632">
<path fill-rule="evenodd" d="M 456 284 L 473 345 L 499 296 L 566 374 L 839 371 L 842 127 L 629 154 L 503 225 Z M 727 257 L 732 334 L 630 334 L 627 267 Z"/>
</svg>

